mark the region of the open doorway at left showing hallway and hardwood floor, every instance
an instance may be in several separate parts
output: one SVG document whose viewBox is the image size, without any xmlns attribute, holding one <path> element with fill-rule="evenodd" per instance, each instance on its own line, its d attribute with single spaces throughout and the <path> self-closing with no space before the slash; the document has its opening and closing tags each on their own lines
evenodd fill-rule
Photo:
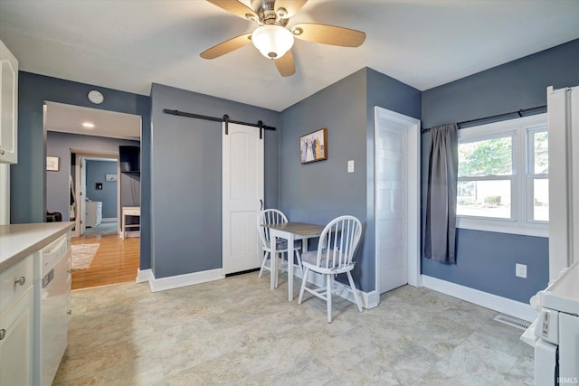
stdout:
<svg viewBox="0 0 579 386">
<path fill-rule="evenodd" d="M 119 238 L 119 219 L 123 206 L 140 206 L 140 174 L 120 173 L 119 146 L 140 146 L 140 133 L 140 116 L 44 104 L 45 155 L 57 165 L 45 172 L 46 211 L 75 221 L 73 247 L 99 244 L 88 268 L 73 268 L 72 289 L 137 278 L 140 238 Z"/>
</svg>

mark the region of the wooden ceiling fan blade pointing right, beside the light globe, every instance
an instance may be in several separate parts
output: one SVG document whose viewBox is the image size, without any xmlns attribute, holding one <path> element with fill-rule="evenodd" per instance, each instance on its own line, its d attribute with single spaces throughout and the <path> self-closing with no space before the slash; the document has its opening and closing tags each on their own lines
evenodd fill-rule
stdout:
<svg viewBox="0 0 579 386">
<path fill-rule="evenodd" d="M 295 37 L 307 42 L 358 47 L 365 41 L 365 33 L 336 25 L 301 23 L 291 27 Z"/>
</svg>

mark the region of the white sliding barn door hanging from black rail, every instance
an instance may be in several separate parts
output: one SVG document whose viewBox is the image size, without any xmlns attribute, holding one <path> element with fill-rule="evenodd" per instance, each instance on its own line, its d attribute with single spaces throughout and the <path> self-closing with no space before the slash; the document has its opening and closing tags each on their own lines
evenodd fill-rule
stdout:
<svg viewBox="0 0 579 386">
<path fill-rule="evenodd" d="M 260 128 L 223 124 L 223 274 L 259 268 L 257 216 L 263 202 Z"/>
</svg>

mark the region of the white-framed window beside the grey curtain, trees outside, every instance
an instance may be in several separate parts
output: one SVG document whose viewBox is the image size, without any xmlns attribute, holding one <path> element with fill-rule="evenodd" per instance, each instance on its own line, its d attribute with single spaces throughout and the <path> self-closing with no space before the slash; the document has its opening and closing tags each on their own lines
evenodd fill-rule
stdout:
<svg viewBox="0 0 579 386">
<path fill-rule="evenodd" d="M 459 130 L 457 226 L 546 236 L 546 114 Z"/>
</svg>

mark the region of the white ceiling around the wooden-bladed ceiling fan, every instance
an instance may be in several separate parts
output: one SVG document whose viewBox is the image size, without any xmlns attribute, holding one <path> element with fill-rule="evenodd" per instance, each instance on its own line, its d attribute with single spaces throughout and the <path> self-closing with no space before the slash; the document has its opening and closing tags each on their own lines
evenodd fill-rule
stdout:
<svg viewBox="0 0 579 386">
<path fill-rule="evenodd" d="M 365 66 L 431 89 L 579 38 L 578 21 L 577 0 L 309 0 L 289 26 L 335 24 L 366 41 L 297 40 L 296 74 L 282 78 L 251 44 L 200 58 L 256 27 L 203 0 L 0 0 L 0 40 L 22 71 L 143 95 L 156 82 L 277 111 Z"/>
</svg>

